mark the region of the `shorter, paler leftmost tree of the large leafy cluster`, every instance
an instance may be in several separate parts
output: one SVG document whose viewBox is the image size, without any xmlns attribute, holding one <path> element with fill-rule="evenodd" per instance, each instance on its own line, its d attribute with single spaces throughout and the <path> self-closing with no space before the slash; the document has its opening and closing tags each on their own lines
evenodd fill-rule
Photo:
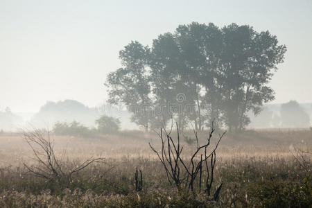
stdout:
<svg viewBox="0 0 312 208">
<path fill-rule="evenodd" d="M 119 52 L 123 68 L 109 73 L 105 86 L 108 87 L 108 103 L 119 105 L 123 103 L 132 112 L 131 121 L 148 128 L 148 114 L 152 101 L 150 95 L 150 80 L 146 71 L 148 62 L 148 47 L 139 42 L 131 42 Z"/>
</svg>

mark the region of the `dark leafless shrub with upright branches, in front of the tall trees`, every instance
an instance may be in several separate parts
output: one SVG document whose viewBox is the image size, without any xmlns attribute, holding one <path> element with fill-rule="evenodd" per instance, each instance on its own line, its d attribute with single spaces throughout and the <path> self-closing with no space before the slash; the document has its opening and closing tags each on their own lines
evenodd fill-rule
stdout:
<svg viewBox="0 0 312 208">
<path fill-rule="evenodd" d="M 166 132 L 164 129 L 160 129 L 159 138 L 162 141 L 162 150 L 157 151 L 149 143 L 150 148 L 157 154 L 160 162 L 164 166 L 168 182 L 171 185 L 175 185 L 177 190 L 190 190 L 193 193 L 196 191 L 202 191 L 202 183 L 205 183 L 205 193 L 207 196 L 211 196 L 211 187 L 214 182 L 214 168 L 216 165 L 216 149 L 220 140 L 225 135 L 218 135 L 218 141 L 216 146 L 209 151 L 210 142 L 215 132 L 214 122 L 212 123 L 209 137 L 206 143 L 200 146 L 198 141 L 197 132 L 194 130 L 196 138 L 196 150 L 191 155 L 191 158 L 187 161 L 185 157 L 182 157 L 183 146 L 180 144 L 180 132 L 176 123 L 177 128 L 177 141 L 174 141 L 171 137 L 171 131 Z M 214 196 L 211 200 L 217 200 L 220 193 L 222 183 L 216 189 Z"/>
</svg>

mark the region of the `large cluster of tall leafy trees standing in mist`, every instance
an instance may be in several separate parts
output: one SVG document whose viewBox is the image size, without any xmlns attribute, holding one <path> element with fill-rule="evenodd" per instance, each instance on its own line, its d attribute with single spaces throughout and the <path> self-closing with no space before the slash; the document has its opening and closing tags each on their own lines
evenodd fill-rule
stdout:
<svg viewBox="0 0 312 208">
<path fill-rule="evenodd" d="M 286 46 L 268 31 L 230 24 L 180 25 L 152 46 L 130 42 L 119 52 L 123 67 L 107 76 L 109 103 L 123 103 L 131 121 L 148 128 L 177 121 L 181 130 L 198 131 L 213 119 L 229 130 L 250 123 L 263 103 L 272 101 L 268 86 Z"/>
</svg>

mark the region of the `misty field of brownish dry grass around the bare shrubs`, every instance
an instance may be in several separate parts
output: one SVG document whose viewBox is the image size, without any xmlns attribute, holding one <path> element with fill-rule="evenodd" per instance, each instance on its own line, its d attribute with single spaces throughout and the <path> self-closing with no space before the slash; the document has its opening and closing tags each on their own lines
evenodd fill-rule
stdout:
<svg viewBox="0 0 312 208">
<path fill-rule="evenodd" d="M 192 133 L 185 135 L 191 137 Z M 198 137 L 202 143 L 207 132 Z M 37 164 L 23 136 L 2 133 L 0 207 L 311 207 L 312 204 L 311 130 L 227 133 L 216 150 L 211 190 L 223 183 L 216 201 L 208 200 L 205 191 L 177 190 L 168 183 L 164 166 L 148 146 L 151 142 L 155 149 L 160 148 L 156 134 L 129 131 L 97 139 L 53 135 L 51 139 L 55 157 L 62 157 L 64 166 L 75 167 L 91 157 L 104 159 L 73 174 L 69 182 L 46 180 L 26 168 Z M 213 138 L 211 144 L 215 142 Z M 196 145 L 191 143 L 182 139 L 184 157 L 193 152 Z M 139 190 L 135 184 L 137 169 L 142 173 Z"/>
</svg>

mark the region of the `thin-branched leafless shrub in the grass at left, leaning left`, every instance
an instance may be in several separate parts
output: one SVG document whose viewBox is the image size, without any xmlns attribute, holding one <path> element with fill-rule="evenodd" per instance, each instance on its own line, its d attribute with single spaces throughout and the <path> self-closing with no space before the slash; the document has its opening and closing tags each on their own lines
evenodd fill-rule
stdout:
<svg viewBox="0 0 312 208">
<path fill-rule="evenodd" d="M 58 182 L 69 181 L 74 173 L 82 171 L 84 168 L 94 162 L 104 162 L 104 158 L 98 157 L 85 160 L 71 168 L 65 163 L 65 153 L 60 158 L 55 157 L 53 150 L 53 141 L 51 141 L 49 131 L 34 129 L 32 131 L 24 130 L 24 139 L 31 147 L 35 155 L 36 165 L 29 166 L 24 163 L 28 170 L 28 175 L 42 177 L 46 180 Z"/>
</svg>

